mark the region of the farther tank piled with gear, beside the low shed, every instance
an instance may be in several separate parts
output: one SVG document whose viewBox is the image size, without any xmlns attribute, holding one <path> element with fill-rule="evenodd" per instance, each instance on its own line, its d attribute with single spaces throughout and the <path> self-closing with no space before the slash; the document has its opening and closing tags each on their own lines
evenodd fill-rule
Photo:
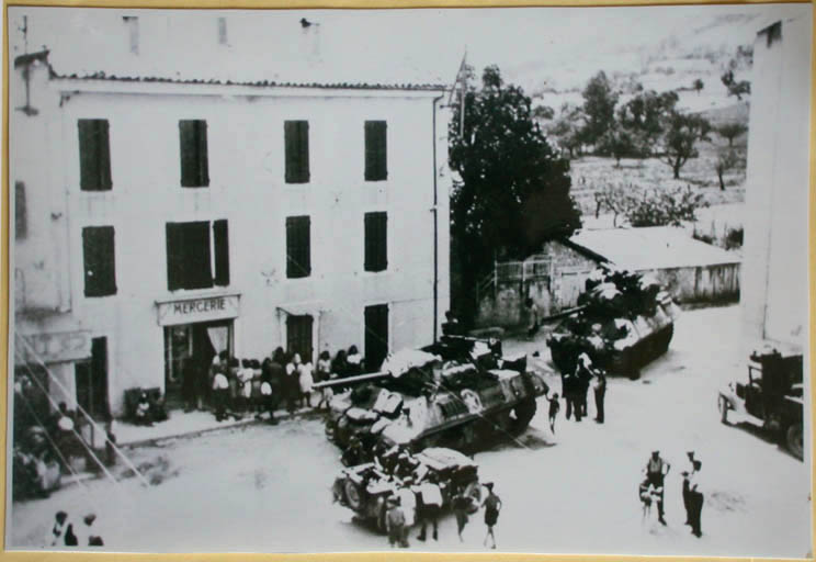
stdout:
<svg viewBox="0 0 816 562">
<path fill-rule="evenodd" d="M 653 278 L 609 268 L 590 274 L 577 308 L 547 338 L 553 363 L 573 372 L 586 352 L 607 372 L 632 379 L 668 350 L 680 312 Z"/>
</svg>

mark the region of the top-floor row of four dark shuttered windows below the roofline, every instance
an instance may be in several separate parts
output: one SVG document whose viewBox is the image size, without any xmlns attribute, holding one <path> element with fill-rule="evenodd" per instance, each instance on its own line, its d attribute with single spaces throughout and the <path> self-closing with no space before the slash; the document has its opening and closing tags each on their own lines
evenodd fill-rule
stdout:
<svg viewBox="0 0 816 562">
<path fill-rule="evenodd" d="M 111 178 L 111 145 L 109 123 L 104 119 L 80 119 L 79 130 L 79 184 L 82 191 L 109 191 Z M 309 122 L 285 121 L 284 151 L 286 183 L 308 183 Z M 366 121 L 365 181 L 388 179 L 387 123 Z M 179 121 L 179 148 L 181 155 L 181 187 L 209 186 L 207 159 L 207 123 L 203 120 Z"/>
</svg>

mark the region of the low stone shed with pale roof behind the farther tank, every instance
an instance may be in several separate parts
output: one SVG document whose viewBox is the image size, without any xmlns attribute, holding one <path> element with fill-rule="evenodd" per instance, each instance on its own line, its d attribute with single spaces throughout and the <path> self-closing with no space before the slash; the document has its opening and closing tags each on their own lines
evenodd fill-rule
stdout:
<svg viewBox="0 0 816 562">
<path fill-rule="evenodd" d="M 650 273 L 680 302 L 739 299 L 740 257 L 695 240 L 681 228 L 581 231 L 546 243 L 524 261 L 497 263 L 479 295 L 480 325 L 513 326 L 532 299 L 544 315 L 577 304 L 587 276 L 601 263 Z"/>
</svg>

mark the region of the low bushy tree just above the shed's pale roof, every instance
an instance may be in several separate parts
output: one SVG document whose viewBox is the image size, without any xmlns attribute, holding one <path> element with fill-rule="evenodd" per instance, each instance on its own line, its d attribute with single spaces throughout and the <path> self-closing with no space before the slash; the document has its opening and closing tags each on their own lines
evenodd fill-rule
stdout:
<svg viewBox="0 0 816 562">
<path fill-rule="evenodd" d="M 668 191 L 653 189 L 644 191 L 633 199 L 626 211 L 626 218 L 632 226 L 681 226 L 683 222 L 696 222 L 696 211 L 709 206 L 702 193 L 685 189 Z"/>
</svg>

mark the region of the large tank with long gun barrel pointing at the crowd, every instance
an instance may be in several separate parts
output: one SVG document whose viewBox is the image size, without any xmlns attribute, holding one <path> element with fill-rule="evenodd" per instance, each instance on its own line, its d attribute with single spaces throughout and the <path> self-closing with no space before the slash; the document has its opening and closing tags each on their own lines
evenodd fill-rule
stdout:
<svg viewBox="0 0 816 562">
<path fill-rule="evenodd" d="M 507 358 L 499 341 L 462 336 L 398 351 L 381 372 L 339 382 L 354 386 L 331 400 L 326 435 L 347 465 L 395 446 L 476 450 L 486 437 L 524 430 L 548 391 L 526 356 Z"/>
</svg>

